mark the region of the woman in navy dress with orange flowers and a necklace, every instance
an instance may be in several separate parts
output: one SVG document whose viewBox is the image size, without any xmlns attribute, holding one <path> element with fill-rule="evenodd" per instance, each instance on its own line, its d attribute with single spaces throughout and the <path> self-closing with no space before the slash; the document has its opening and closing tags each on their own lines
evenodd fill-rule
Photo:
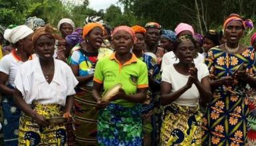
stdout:
<svg viewBox="0 0 256 146">
<path fill-rule="evenodd" d="M 248 100 L 245 86 L 255 88 L 255 50 L 239 44 L 247 23 L 231 14 L 223 24 L 225 44 L 211 48 L 205 57 L 213 99 L 203 117 L 204 145 L 245 145 Z"/>
</svg>

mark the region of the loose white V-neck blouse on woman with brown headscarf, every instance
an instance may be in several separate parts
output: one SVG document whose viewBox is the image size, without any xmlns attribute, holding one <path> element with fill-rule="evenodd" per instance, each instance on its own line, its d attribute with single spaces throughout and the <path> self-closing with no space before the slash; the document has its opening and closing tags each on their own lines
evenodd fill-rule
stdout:
<svg viewBox="0 0 256 146">
<path fill-rule="evenodd" d="M 21 65 L 14 84 L 27 104 L 39 102 L 65 106 L 66 96 L 76 93 L 74 87 L 78 81 L 71 68 L 57 59 L 54 59 L 54 64 L 55 74 L 50 84 L 43 75 L 38 57 Z"/>
</svg>

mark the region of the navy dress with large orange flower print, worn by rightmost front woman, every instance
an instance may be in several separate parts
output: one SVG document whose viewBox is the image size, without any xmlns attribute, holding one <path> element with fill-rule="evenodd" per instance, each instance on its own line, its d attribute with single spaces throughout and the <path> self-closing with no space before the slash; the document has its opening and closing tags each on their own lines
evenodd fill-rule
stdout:
<svg viewBox="0 0 256 146">
<path fill-rule="evenodd" d="M 229 54 L 221 48 L 211 48 L 205 57 L 209 78 L 217 80 L 233 76 L 241 64 L 249 74 L 255 73 L 255 50 L 250 47 L 241 54 Z M 245 145 L 247 137 L 248 99 L 244 82 L 219 86 L 203 117 L 203 145 Z"/>
</svg>

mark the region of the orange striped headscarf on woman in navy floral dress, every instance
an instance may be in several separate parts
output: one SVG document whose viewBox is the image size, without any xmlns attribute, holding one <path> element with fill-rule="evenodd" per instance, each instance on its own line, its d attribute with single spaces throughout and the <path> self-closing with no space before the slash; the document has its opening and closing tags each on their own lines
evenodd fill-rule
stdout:
<svg viewBox="0 0 256 146">
<path fill-rule="evenodd" d="M 225 28 L 227 27 L 227 25 L 233 21 L 239 21 L 242 23 L 242 27 L 244 29 L 247 28 L 251 28 L 253 29 L 253 21 L 251 21 L 251 19 L 246 19 L 245 21 L 243 21 L 243 19 L 240 17 L 240 15 L 237 14 L 231 14 L 229 15 L 229 17 L 227 17 L 223 23 L 223 29 L 225 30 Z"/>
</svg>

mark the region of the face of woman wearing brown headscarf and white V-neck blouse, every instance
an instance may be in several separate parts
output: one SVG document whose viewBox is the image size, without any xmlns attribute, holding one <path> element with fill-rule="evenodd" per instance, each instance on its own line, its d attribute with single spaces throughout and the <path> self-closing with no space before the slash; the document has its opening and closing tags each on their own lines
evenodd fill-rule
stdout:
<svg viewBox="0 0 256 146">
<path fill-rule="evenodd" d="M 35 42 L 35 52 L 39 58 L 49 60 L 53 58 L 55 52 L 55 38 L 49 38 L 46 35 L 40 36 Z"/>
</svg>

